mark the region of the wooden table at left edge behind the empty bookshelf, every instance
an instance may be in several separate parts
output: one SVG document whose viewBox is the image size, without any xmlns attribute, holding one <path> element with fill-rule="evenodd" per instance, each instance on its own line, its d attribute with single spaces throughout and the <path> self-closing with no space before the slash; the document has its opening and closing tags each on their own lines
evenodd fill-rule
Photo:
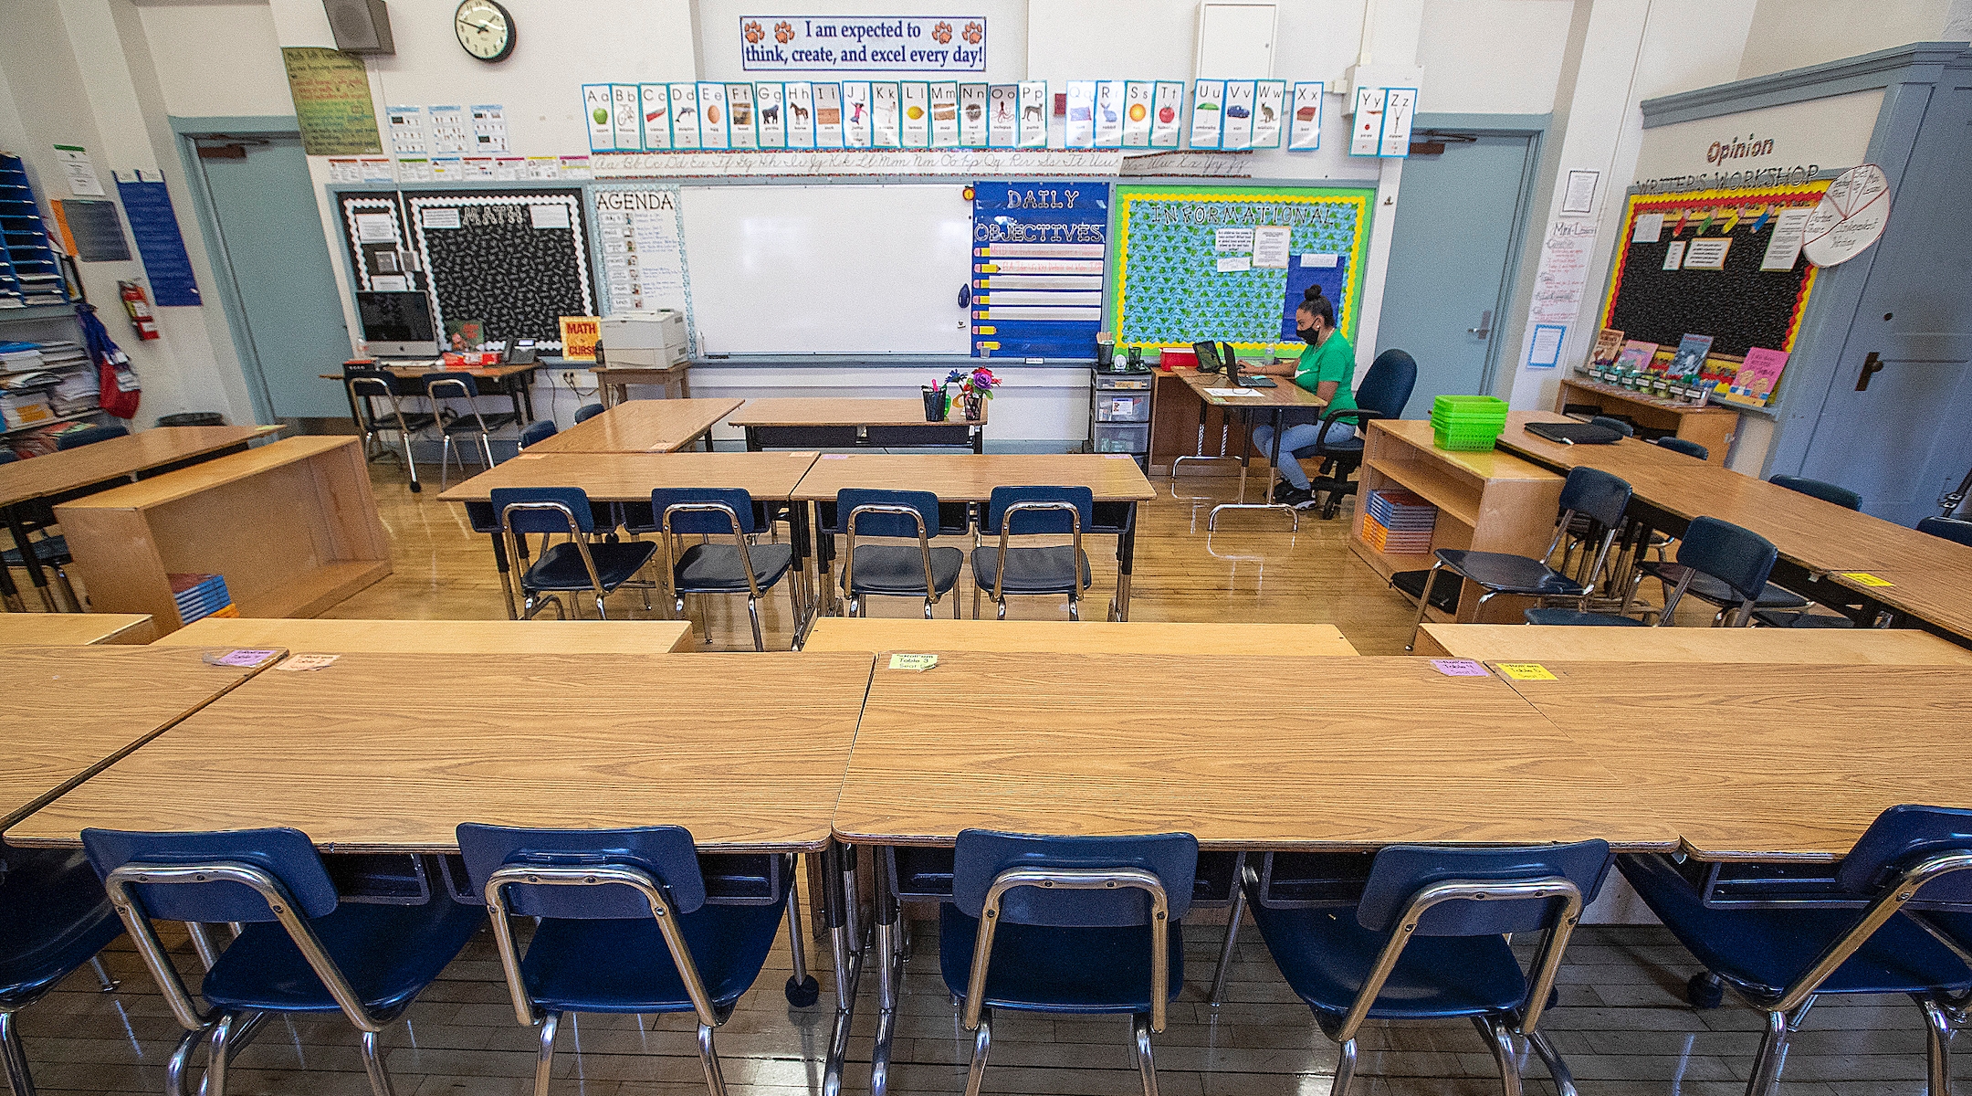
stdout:
<svg viewBox="0 0 1972 1096">
<path fill-rule="evenodd" d="M 28 542 L 26 522 L 35 503 L 53 505 L 87 495 L 108 481 L 245 449 L 248 442 L 270 438 L 280 430 L 280 426 L 158 426 L 128 438 L 14 461 L 0 465 L 0 509 L 6 511 L 14 544 L 20 546 Z M 55 611 L 41 560 L 34 552 L 24 552 L 22 566 L 41 595 L 41 605 Z M 22 611 L 20 591 L 6 568 L 0 568 L 0 597 L 8 609 Z"/>
</svg>

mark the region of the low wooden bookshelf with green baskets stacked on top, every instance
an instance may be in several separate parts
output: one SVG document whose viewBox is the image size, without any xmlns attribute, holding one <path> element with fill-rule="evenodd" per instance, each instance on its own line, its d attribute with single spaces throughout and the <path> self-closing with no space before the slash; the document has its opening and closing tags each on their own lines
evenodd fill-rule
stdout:
<svg viewBox="0 0 1972 1096">
<path fill-rule="evenodd" d="M 1378 420 L 1363 442 L 1363 471 L 1349 550 L 1382 578 L 1424 572 L 1436 560 L 1430 552 L 1388 554 L 1363 540 L 1369 493 L 1402 489 L 1438 507 L 1432 552 L 1465 548 L 1471 552 L 1513 552 L 1540 556 L 1554 538 L 1554 518 L 1562 503 L 1562 477 L 1499 449 L 1455 453 L 1432 445 L 1426 420 Z M 1479 589 L 1465 583 L 1457 615 L 1426 609 L 1436 623 L 1518 623 L 1526 599 L 1495 597 L 1479 613 Z"/>
</svg>

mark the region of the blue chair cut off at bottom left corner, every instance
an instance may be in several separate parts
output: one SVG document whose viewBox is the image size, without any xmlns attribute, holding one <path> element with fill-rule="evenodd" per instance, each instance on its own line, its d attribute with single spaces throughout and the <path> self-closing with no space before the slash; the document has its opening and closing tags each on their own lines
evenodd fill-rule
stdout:
<svg viewBox="0 0 1972 1096">
<path fill-rule="evenodd" d="M 14 1013 L 26 1009 L 122 936 L 103 881 L 69 850 L 0 854 L 0 1061 L 8 1092 L 34 1096 Z M 105 992 L 114 988 L 101 962 Z"/>
</svg>

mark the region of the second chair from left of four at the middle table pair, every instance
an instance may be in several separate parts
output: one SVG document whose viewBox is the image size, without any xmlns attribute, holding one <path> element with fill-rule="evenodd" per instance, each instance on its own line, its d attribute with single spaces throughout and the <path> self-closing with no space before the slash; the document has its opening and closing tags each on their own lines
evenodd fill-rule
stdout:
<svg viewBox="0 0 1972 1096">
<path fill-rule="evenodd" d="M 661 534 L 676 613 L 684 615 L 686 593 L 745 593 L 745 611 L 753 621 L 753 651 L 767 651 L 767 641 L 759 631 L 759 597 L 793 572 L 795 548 L 751 542 L 761 526 L 753 495 L 740 487 L 651 491 L 651 522 L 649 528 L 625 522 L 625 528 Z M 680 536 L 698 536 L 700 540 L 680 552 Z M 718 544 L 712 540 L 714 536 L 732 540 Z M 787 587 L 799 621 L 801 591 L 795 589 L 793 582 Z M 706 617 L 702 633 L 706 643 L 712 643 L 710 617 Z"/>
</svg>

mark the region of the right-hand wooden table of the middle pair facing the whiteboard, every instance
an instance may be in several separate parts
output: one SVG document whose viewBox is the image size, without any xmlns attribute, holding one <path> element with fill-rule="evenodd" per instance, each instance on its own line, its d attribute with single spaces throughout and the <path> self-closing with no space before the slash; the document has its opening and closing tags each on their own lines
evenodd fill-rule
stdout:
<svg viewBox="0 0 1972 1096">
<path fill-rule="evenodd" d="M 1116 601 L 1110 615 L 1128 621 L 1136 507 L 1158 497 L 1128 453 L 822 453 L 793 497 L 816 507 L 814 528 L 822 536 L 816 578 L 828 585 L 832 536 L 820 526 L 820 505 L 834 503 L 844 487 L 931 491 L 941 503 L 986 503 L 994 487 L 1025 485 L 1087 487 L 1094 495 L 1098 532 L 1116 534 Z M 1104 511 L 1120 513 L 1104 518 Z"/>
</svg>

